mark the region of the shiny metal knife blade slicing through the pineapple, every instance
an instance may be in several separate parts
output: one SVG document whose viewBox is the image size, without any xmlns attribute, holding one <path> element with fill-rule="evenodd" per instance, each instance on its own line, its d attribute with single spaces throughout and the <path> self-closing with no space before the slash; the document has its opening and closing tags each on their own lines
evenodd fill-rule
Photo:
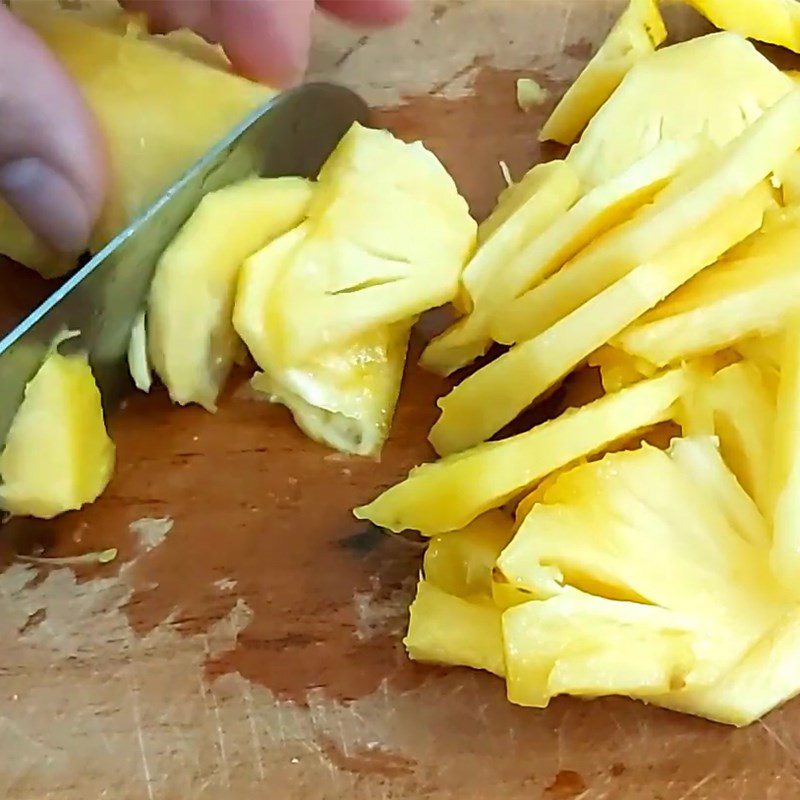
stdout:
<svg viewBox="0 0 800 800">
<path fill-rule="evenodd" d="M 62 351 L 88 353 L 106 411 L 132 387 L 127 350 L 158 258 L 204 195 L 254 174 L 315 178 L 368 109 L 342 86 L 313 83 L 276 95 L 194 166 L 0 339 L 0 451 L 28 381 L 57 336 Z"/>
</svg>

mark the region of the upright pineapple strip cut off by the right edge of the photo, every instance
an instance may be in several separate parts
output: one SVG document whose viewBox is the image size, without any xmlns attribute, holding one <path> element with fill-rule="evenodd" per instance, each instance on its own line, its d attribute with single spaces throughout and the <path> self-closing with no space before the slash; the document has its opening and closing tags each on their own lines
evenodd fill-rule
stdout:
<svg viewBox="0 0 800 800">
<path fill-rule="evenodd" d="M 772 568 L 800 594 L 800 319 L 786 328 L 772 451 Z"/>
</svg>

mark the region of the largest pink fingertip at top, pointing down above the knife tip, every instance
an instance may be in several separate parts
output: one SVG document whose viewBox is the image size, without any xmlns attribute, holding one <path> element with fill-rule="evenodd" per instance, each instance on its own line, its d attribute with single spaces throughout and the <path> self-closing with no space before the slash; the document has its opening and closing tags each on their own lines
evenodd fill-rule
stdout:
<svg viewBox="0 0 800 800">
<path fill-rule="evenodd" d="M 302 78 L 313 11 L 314 0 L 211 0 L 219 42 L 234 69 L 274 86 Z"/>
</svg>

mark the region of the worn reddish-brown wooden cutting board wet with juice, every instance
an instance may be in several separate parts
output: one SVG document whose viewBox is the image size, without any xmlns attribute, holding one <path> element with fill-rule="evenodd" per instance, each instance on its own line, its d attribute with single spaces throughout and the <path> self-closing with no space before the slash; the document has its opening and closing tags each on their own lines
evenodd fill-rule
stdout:
<svg viewBox="0 0 800 800">
<path fill-rule="evenodd" d="M 480 217 L 500 159 L 519 176 L 554 155 L 537 144 L 543 115 L 618 11 L 419 2 L 405 27 L 373 35 L 322 20 L 312 72 L 423 139 Z M 669 20 L 677 38 L 704 29 L 682 9 Z M 519 75 L 551 91 L 538 112 L 516 107 Z M 431 457 L 445 382 L 410 361 L 375 462 L 309 442 L 246 378 L 213 416 L 161 390 L 131 397 L 111 420 L 119 463 L 103 498 L 5 527 L 4 798 L 800 796 L 800 702 L 741 731 L 622 699 L 534 711 L 507 704 L 489 675 L 410 663 L 401 637 L 420 545 L 350 509 Z M 105 566 L 21 558 L 108 547 L 119 555 Z"/>
</svg>

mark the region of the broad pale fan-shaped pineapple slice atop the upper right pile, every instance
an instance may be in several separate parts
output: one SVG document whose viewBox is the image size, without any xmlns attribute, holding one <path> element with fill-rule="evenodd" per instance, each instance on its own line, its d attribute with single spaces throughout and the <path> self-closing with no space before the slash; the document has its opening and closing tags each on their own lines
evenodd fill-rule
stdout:
<svg viewBox="0 0 800 800">
<path fill-rule="evenodd" d="M 735 33 L 675 44 L 633 66 L 568 161 L 596 186 L 665 139 L 703 135 L 722 146 L 792 88 L 791 78 Z"/>
</svg>

